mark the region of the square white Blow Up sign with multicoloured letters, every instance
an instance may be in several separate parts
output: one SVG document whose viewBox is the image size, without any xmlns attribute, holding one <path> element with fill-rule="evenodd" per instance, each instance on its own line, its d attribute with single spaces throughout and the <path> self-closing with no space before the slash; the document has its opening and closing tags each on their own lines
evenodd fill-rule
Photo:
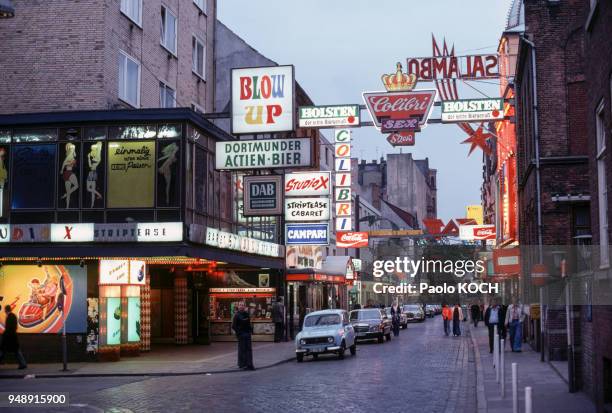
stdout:
<svg viewBox="0 0 612 413">
<path fill-rule="evenodd" d="M 293 131 L 293 66 L 232 69 L 232 133 Z"/>
</svg>

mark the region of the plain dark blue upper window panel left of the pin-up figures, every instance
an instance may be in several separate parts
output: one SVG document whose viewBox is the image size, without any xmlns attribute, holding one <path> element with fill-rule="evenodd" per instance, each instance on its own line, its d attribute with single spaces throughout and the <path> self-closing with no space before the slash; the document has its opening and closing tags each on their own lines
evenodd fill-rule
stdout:
<svg viewBox="0 0 612 413">
<path fill-rule="evenodd" d="M 54 143 L 13 147 L 13 209 L 55 206 L 56 151 Z"/>
</svg>

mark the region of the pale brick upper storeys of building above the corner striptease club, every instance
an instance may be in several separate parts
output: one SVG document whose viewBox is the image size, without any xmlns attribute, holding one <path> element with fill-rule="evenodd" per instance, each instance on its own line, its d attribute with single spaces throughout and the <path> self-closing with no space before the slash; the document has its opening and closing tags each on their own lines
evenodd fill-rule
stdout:
<svg viewBox="0 0 612 413">
<path fill-rule="evenodd" d="M 174 91 L 172 107 L 212 111 L 216 1 L 23 0 L 17 8 L 0 25 L 0 113 L 165 107 L 162 84 Z M 194 64 L 198 44 L 203 59 Z M 122 52 L 139 65 L 136 102 L 119 97 Z"/>
</svg>

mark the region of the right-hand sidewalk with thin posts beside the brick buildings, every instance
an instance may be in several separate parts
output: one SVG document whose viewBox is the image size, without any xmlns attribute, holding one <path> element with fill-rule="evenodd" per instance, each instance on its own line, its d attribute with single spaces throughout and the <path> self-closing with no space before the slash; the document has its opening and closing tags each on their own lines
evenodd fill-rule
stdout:
<svg viewBox="0 0 612 413">
<path fill-rule="evenodd" d="M 567 383 L 548 364 L 540 361 L 540 354 L 523 344 L 523 352 L 513 353 L 506 344 L 505 397 L 501 397 L 500 384 L 495 380 L 493 354 L 489 353 L 488 330 L 480 324 L 470 325 L 476 352 L 477 391 L 479 413 L 512 413 L 512 363 L 518 364 L 518 411 L 525 411 L 525 387 L 532 388 L 533 412 L 587 413 L 595 407 L 584 393 L 569 393 Z M 480 353 L 480 354 L 478 354 Z"/>
</svg>

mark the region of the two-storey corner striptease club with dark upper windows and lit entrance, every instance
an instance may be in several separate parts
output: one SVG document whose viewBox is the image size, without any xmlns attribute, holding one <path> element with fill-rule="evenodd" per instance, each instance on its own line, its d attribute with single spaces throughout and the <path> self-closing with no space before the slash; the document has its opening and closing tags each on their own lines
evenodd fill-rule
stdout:
<svg viewBox="0 0 612 413">
<path fill-rule="evenodd" d="M 285 251 L 236 220 L 232 139 L 189 109 L 0 116 L 0 296 L 30 361 L 60 359 L 64 315 L 70 360 L 231 340 L 240 301 L 273 339 Z"/>
</svg>

